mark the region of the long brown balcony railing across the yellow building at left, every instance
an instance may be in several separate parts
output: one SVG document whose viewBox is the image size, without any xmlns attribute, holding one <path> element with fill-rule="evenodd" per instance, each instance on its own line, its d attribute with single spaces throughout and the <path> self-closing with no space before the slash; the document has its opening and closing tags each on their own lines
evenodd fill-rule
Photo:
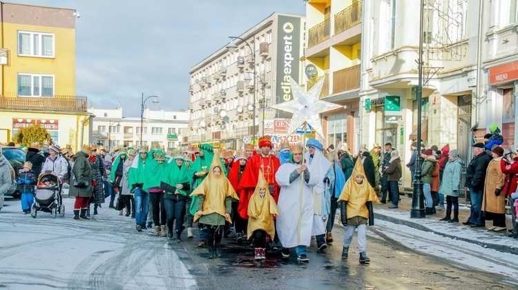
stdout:
<svg viewBox="0 0 518 290">
<path fill-rule="evenodd" d="M 0 96 L 0 109 L 87 112 L 87 101 L 86 96 L 26 97 L 6 93 Z"/>
</svg>

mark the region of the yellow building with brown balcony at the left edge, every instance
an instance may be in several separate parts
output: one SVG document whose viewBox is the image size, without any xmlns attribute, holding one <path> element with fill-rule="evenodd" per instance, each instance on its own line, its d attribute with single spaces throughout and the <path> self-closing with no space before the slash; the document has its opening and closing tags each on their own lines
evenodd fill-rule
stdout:
<svg viewBox="0 0 518 290">
<path fill-rule="evenodd" d="M 75 96 L 75 10 L 1 5 L 0 142 L 40 123 L 78 149 L 91 136 L 85 96 Z"/>
</svg>

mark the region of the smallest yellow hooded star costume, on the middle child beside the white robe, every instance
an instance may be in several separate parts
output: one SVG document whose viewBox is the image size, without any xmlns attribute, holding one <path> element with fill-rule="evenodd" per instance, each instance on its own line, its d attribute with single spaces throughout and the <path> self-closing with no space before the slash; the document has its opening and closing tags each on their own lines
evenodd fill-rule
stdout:
<svg viewBox="0 0 518 290">
<path fill-rule="evenodd" d="M 262 198 L 259 195 L 259 190 L 261 188 L 266 189 L 266 194 L 264 198 Z M 266 233 L 269 234 L 272 240 L 275 238 L 274 218 L 272 218 L 271 215 L 274 214 L 278 216 L 279 209 L 277 208 L 277 204 L 275 203 L 274 197 L 270 194 L 270 191 L 268 189 L 268 183 L 265 179 L 265 176 L 262 174 L 262 170 L 259 170 L 259 177 L 256 190 L 253 191 L 253 194 L 250 197 L 247 213 L 248 239 L 252 237 L 253 231 L 256 231 L 257 229 L 262 229 L 263 231 L 266 231 Z"/>
</svg>

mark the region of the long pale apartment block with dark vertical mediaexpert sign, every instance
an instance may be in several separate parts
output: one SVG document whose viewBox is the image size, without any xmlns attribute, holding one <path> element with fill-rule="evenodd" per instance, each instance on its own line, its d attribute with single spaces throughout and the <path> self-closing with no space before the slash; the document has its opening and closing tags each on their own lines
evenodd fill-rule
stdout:
<svg viewBox="0 0 518 290">
<path fill-rule="evenodd" d="M 274 146 L 287 138 L 291 116 L 269 106 L 293 99 L 290 76 L 302 81 L 304 25 L 303 16 L 275 12 L 194 65 L 184 143 L 236 149 L 265 134 Z"/>
</svg>

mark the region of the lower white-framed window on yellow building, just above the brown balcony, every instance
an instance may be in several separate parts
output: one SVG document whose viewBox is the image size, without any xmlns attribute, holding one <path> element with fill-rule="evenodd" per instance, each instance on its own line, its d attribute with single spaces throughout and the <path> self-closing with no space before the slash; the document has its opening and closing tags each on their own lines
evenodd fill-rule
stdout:
<svg viewBox="0 0 518 290">
<path fill-rule="evenodd" d="M 18 74 L 18 96 L 53 96 L 54 76 Z"/>
</svg>

